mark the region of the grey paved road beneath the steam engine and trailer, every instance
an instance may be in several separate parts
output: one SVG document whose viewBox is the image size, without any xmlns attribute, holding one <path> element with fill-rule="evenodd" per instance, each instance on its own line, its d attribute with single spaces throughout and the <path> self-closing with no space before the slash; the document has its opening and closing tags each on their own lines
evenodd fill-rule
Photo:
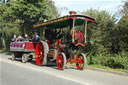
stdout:
<svg viewBox="0 0 128 85">
<path fill-rule="evenodd" d="M 128 85 L 128 77 L 86 69 L 37 66 L 0 54 L 0 85 Z"/>
</svg>

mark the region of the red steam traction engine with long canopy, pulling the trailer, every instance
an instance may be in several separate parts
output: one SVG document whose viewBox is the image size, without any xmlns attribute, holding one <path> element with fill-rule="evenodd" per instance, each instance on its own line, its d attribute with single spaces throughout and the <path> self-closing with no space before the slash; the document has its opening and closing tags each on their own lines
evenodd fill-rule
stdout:
<svg viewBox="0 0 128 85">
<path fill-rule="evenodd" d="M 71 15 L 33 26 L 45 30 L 45 40 L 38 42 L 35 48 L 37 65 L 55 61 L 61 70 L 67 63 L 76 63 L 78 69 L 85 69 L 86 56 L 77 51 L 87 44 L 87 24 L 95 22 L 95 18 L 70 13 Z"/>
</svg>

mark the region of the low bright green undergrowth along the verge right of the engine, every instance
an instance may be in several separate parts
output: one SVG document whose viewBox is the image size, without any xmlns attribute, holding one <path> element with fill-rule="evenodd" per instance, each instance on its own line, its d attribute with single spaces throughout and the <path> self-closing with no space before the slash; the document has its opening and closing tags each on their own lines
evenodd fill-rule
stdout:
<svg viewBox="0 0 128 85">
<path fill-rule="evenodd" d="M 128 69 L 128 53 L 122 52 L 120 54 L 97 54 L 96 56 L 88 56 L 89 64 L 109 66 L 111 68 Z M 90 60 L 91 59 L 91 60 Z"/>
</svg>

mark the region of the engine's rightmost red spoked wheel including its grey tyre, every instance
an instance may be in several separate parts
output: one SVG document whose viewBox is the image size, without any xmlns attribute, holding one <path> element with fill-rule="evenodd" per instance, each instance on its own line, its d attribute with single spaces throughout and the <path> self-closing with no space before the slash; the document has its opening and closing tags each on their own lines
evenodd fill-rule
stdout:
<svg viewBox="0 0 128 85">
<path fill-rule="evenodd" d="M 76 67 L 79 70 L 84 70 L 86 67 L 86 56 L 81 53 L 76 57 Z"/>
</svg>

